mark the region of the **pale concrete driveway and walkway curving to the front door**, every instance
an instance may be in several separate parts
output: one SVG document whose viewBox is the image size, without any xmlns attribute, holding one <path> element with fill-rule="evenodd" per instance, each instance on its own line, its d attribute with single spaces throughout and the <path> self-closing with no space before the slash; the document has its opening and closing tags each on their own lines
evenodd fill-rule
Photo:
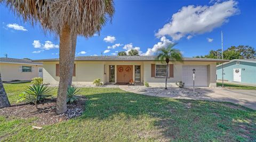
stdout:
<svg viewBox="0 0 256 142">
<path fill-rule="evenodd" d="M 240 104 L 246 106 L 247 108 L 256 110 L 256 90 L 229 90 L 221 88 L 210 88 L 210 87 L 198 87 L 196 92 L 202 93 L 202 96 L 170 96 L 161 93 L 150 93 L 150 92 L 140 92 L 133 90 L 127 85 L 119 85 L 121 90 L 148 95 L 148 96 L 158 96 L 158 97 L 170 97 L 173 99 L 190 99 L 190 100 L 207 100 L 207 101 L 221 101 L 221 102 L 232 102 L 235 104 Z M 192 88 L 188 88 L 193 91 Z"/>
</svg>

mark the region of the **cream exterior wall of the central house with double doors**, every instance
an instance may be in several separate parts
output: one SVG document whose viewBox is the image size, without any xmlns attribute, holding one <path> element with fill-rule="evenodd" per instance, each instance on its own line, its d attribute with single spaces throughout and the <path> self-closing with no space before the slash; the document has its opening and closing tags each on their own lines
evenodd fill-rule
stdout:
<svg viewBox="0 0 256 142">
<path fill-rule="evenodd" d="M 59 77 L 55 76 L 57 61 L 45 61 L 44 63 L 44 83 L 58 84 Z M 141 66 L 141 82 L 148 82 L 150 86 L 164 86 L 165 78 L 151 77 L 151 64 L 161 64 L 154 61 L 75 61 L 76 76 L 73 76 L 73 84 L 91 85 L 94 79 L 100 78 L 103 83 L 109 81 L 109 65 L 115 65 L 115 82 L 117 81 L 117 65 Z M 182 80 L 182 65 L 207 65 L 208 85 L 216 86 L 216 63 L 207 61 L 184 61 L 174 62 L 173 76 L 167 79 L 167 85 L 173 86 L 175 82 Z M 104 70 L 105 66 L 105 70 Z"/>
</svg>

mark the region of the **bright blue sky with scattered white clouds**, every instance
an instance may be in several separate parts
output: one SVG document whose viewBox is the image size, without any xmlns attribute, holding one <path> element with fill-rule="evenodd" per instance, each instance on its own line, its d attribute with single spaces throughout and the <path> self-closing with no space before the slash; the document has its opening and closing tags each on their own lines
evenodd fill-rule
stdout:
<svg viewBox="0 0 256 142">
<path fill-rule="evenodd" d="M 184 57 L 248 45 L 256 48 L 256 1 L 114 1 L 113 20 L 93 37 L 77 38 L 76 56 L 114 56 L 139 50 L 141 56 L 178 43 Z M 0 57 L 59 57 L 59 38 L 31 26 L 0 4 Z"/>
</svg>

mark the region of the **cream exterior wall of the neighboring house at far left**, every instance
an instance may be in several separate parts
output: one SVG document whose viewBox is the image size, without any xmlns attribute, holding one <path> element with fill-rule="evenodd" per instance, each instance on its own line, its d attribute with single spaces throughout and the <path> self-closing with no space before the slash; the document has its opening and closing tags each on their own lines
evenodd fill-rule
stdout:
<svg viewBox="0 0 256 142">
<path fill-rule="evenodd" d="M 20 66 L 32 66 L 32 72 L 21 72 Z M 43 67 L 43 65 L 0 63 L 2 81 L 29 81 L 38 77 L 38 67 Z"/>
</svg>

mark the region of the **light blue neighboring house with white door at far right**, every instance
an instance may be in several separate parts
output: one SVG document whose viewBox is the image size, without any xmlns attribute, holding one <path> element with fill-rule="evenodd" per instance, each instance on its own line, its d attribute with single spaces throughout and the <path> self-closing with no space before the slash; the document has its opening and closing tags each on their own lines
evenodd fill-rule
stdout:
<svg viewBox="0 0 256 142">
<path fill-rule="evenodd" d="M 256 84 L 256 59 L 234 59 L 223 64 L 223 80 Z M 217 66 L 217 79 L 222 80 L 222 65 Z"/>
</svg>

